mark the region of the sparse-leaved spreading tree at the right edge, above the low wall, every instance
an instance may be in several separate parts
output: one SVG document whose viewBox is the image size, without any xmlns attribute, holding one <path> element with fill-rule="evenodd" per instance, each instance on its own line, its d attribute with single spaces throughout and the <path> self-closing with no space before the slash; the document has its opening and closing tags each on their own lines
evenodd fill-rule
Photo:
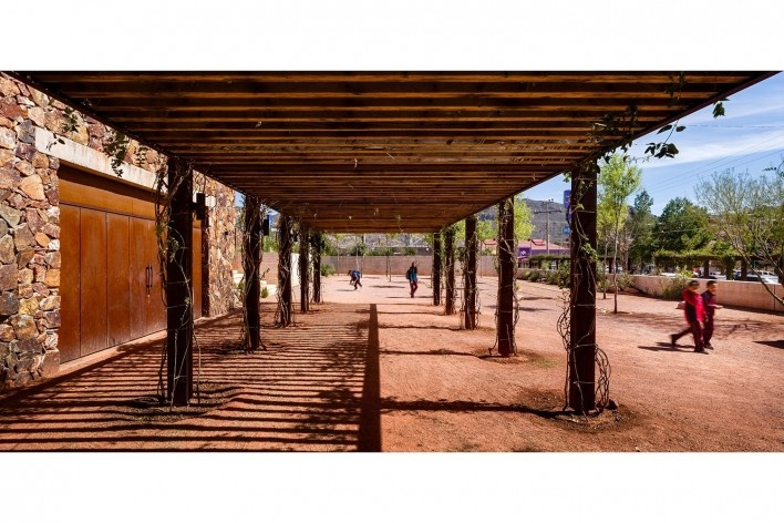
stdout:
<svg viewBox="0 0 784 523">
<path fill-rule="evenodd" d="M 722 239 L 756 271 L 756 262 L 773 266 L 784 281 L 784 176 L 752 176 L 749 171 L 713 173 L 695 187 L 697 197 L 715 217 Z M 760 278 L 780 304 L 784 299 Z"/>
</svg>

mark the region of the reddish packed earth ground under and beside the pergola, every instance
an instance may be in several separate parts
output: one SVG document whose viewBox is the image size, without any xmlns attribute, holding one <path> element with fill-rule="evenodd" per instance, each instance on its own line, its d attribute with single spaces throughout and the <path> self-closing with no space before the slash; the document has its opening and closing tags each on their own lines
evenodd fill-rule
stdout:
<svg viewBox="0 0 784 523">
<path fill-rule="evenodd" d="M 241 310 L 197 321 L 189 407 L 158 401 L 161 334 L 63 366 L 0 396 L 0 451 L 781 452 L 784 318 L 724 308 L 713 350 L 693 352 L 675 302 L 597 300 L 597 343 L 616 409 L 564 409 L 564 291 L 519 281 L 517 355 L 495 350 L 496 278 L 481 278 L 479 328 L 412 298 L 402 276 L 322 279 L 323 304 L 241 350 Z M 721 289 L 719 294 L 721 302 Z M 299 304 L 296 304 L 299 310 Z M 165 383 L 165 367 L 163 381 Z"/>
</svg>

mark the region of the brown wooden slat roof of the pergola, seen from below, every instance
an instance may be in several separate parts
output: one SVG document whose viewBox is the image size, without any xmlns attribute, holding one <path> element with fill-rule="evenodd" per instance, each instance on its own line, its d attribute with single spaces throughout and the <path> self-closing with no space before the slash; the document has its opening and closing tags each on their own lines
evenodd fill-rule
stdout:
<svg viewBox="0 0 784 523">
<path fill-rule="evenodd" d="M 398 233 L 572 170 L 607 114 L 641 136 L 773 73 L 13 74 L 311 227 Z"/>
</svg>

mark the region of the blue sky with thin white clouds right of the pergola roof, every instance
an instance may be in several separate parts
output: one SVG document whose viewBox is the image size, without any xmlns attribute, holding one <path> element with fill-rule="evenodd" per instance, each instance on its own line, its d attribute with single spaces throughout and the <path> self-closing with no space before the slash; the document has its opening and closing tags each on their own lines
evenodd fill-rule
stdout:
<svg viewBox="0 0 784 523">
<path fill-rule="evenodd" d="M 784 158 L 784 73 L 730 96 L 724 102 L 724 116 L 714 119 L 713 107 L 709 106 L 682 119 L 679 124 L 687 129 L 673 133 L 671 139 L 680 151 L 674 158 L 638 162 L 642 186 L 653 198 L 654 215 L 675 197 L 695 202 L 694 186 L 714 172 L 734 168 L 770 176 L 771 173 L 763 170 L 781 164 Z M 663 136 L 663 133 L 653 133 L 637 140 L 630 155 L 644 158 L 646 144 Z M 557 176 L 524 194 L 532 199 L 560 202 L 569 184 Z"/>
</svg>

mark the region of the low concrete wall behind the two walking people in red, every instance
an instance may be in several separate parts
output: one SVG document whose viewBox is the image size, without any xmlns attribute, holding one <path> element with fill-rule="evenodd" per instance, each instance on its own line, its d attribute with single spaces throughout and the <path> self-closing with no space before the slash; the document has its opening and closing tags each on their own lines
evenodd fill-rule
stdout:
<svg viewBox="0 0 784 523">
<path fill-rule="evenodd" d="M 667 276 L 635 276 L 635 288 L 650 296 L 662 296 L 667 283 L 670 280 Z M 705 289 L 706 279 L 701 279 L 701 289 Z M 773 290 L 776 296 L 784 298 L 784 287 L 780 284 L 773 285 Z M 765 287 L 756 281 L 725 281 L 719 280 L 719 290 L 716 291 L 716 301 L 719 305 L 730 307 L 747 307 L 751 309 L 771 310 L 774 312 L 783 312 L 782 307 L 766 290 Z"/>
</svg>

